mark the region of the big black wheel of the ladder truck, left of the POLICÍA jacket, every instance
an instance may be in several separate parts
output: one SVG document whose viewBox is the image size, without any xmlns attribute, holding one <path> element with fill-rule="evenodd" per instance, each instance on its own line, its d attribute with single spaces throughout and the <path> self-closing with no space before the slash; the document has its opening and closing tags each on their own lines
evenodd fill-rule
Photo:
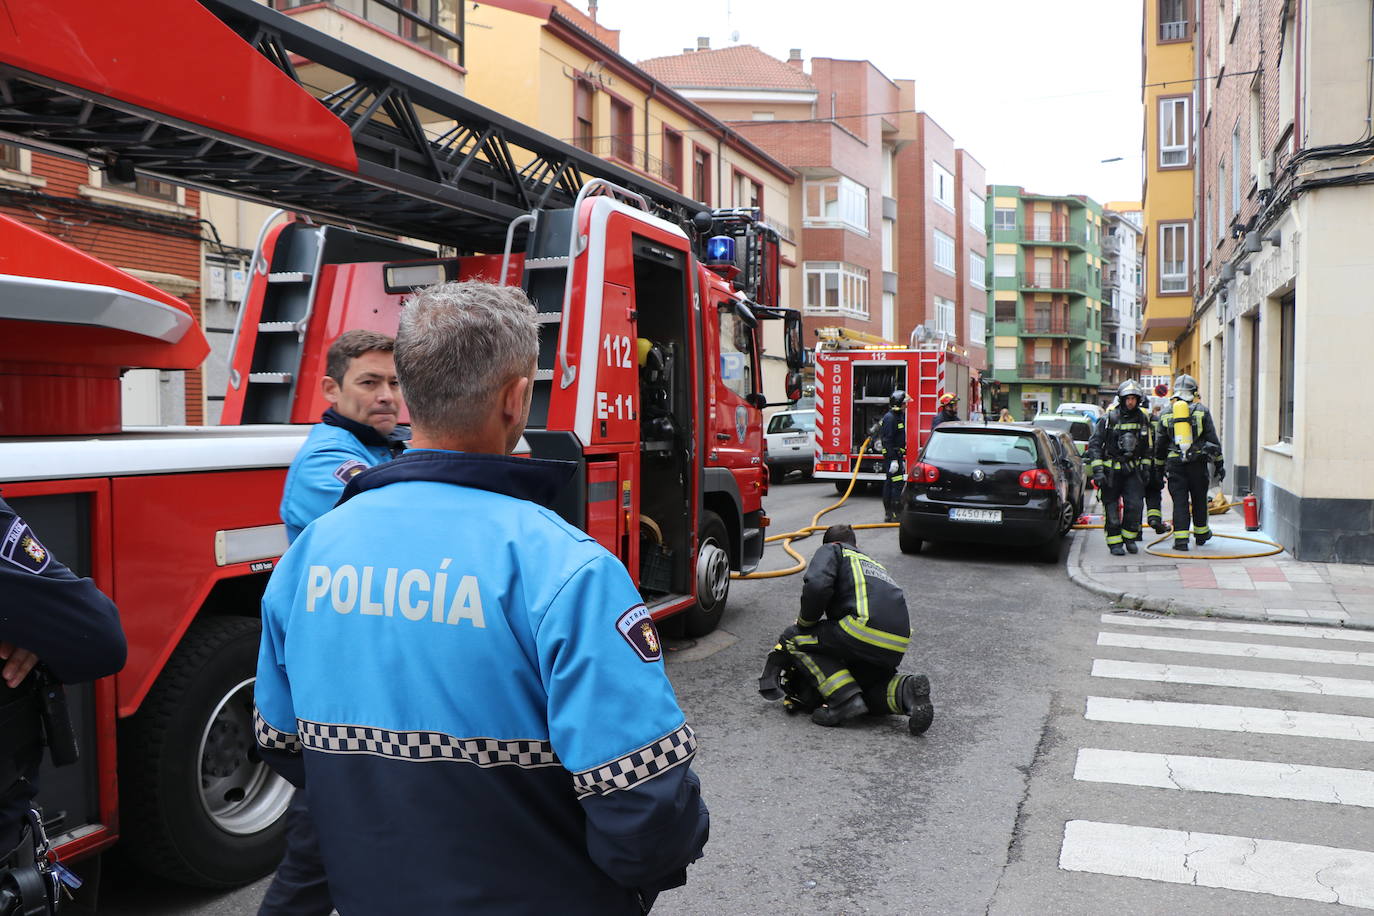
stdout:
<svg viewBox="0 0 1374 916">
<path fill-rule="evenodd" d="M 192 623 L 121 728 L 122 846 L 150 872 L 196 887 L 236 887 L 282 860 L 294 790 L 257 754 L 261 632 L 247 617 Z"/>
</svg>

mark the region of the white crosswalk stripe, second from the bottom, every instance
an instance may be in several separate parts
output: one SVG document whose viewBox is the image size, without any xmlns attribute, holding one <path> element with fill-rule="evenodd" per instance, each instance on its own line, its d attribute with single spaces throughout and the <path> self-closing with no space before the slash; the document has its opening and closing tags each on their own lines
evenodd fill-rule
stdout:
<svg viewBox="0 0 1374 916">
<path fill-rule="evenodd" d="M 1079 750 L 1073 779 L 1374 808 L 1374 773 L 1340 766 L 1084 747 Z"/>
</svg>

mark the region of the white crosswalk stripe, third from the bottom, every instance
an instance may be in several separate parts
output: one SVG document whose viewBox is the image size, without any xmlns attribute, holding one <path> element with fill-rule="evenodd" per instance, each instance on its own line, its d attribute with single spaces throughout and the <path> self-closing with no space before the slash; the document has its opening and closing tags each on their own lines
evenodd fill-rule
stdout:
<svg viewBox="0 0 1374 916">
<path fill-rule="evenodd" d="M 1125 722 L 1129 725 L 1167 725 L 1219 732 L 1250 732 L 1253 735 L 1374 742 L 1374 718 L 1367 715 L 1301 713 L 1257 706 L 1213 706 L 1210 703 L 1090 696 L 1084 717 L 1099 722 Z"/>
</svg>

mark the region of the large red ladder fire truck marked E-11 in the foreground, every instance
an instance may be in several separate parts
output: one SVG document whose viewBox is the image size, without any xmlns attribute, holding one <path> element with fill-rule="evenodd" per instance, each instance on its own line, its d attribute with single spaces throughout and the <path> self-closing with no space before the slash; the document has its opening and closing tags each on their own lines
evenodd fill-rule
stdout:
<svg viewBox="0 0 1374 916">
<path fill-rule="evenodd" d="M 121 428 L 124 369 L 205 358 L 187 305 L 0 217 L 0 488 L 129 639 L 120 674 L 71 691 L 80 764 L 43 775 L 63 858 L 122 839 L 207 887 L 275 868 L 291 790 L 256 755 L 251 689 L 282 485 L 324 407 L 330 341 L 394 331 L 416 287 L 528 291 L 523 450 L 576 463 L 558 511 L 655 618 L 717 625 L 731 571 L 764 549 L 758 321 L 785 323 L 796 394 L 805 358 L 756 211 L 705 211 L 254 0 L 5 11 L 7 140 L 282 209 L 253 257 L 224 424 L 201 428 Z M 177 40 L 150 43 L 142 21 Z M 302 60 L 335 88 L 302 85 Z"/>
</svg>

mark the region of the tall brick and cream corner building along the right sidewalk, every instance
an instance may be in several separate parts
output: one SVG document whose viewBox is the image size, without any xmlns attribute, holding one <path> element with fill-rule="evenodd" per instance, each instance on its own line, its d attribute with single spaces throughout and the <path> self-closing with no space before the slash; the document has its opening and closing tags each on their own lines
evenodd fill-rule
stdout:
<svg viewBox="0 0 1374 916">
<path fill-rule="evenodd" d="M 1374 10 L 1215 0 L 1198 48 L 1197 375 L 1237 492 L 1304 560 L 1374 563 Z M 1353 387 L 1352 387 L 1353 386 Z"/>
</svg>

